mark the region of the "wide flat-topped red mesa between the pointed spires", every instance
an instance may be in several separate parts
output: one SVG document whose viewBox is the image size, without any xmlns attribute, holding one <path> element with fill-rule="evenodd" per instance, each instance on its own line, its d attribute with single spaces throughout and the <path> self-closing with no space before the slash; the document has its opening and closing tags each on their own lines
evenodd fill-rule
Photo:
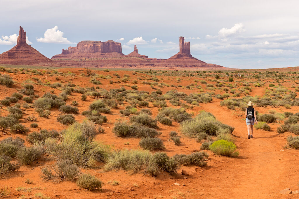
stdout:
<svg viewBox="0 0 299 199">
<path fill-rule="evenodd" d="M 54 55 L 51 59 L 96 59 L 121 57 L 121 43 L 108 40 L 101 41 L 80 41 L 76 47 L 62 49 L 62 53 Z"/>
</svg>

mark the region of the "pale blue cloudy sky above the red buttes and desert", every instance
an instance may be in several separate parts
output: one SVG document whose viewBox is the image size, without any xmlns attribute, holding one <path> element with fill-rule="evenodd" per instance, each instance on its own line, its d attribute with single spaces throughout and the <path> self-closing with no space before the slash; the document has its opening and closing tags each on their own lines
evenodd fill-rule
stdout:
<svg viewBox="0 0 299 199">
<path fill-rule="evenodd" d="M 29 44 L 51 58 L 82 40 L 122 43 L 149 58 L 179 51 L 232 68 L 299 66 L 299 1 L 1 0 L 0 53 L 21 25 Z M 16 34 L 16 35 L 14 35 Z"/>
</svg>

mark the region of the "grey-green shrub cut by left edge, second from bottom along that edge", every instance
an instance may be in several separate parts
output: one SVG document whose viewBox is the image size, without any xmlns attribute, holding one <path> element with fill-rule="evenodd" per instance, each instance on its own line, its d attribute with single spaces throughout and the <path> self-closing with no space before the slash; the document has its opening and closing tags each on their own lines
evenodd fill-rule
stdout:
<svg viewBox="0 0 299 199">
<path fill-rule="evenodd" d="M 5 138 L 0 141 L 0 155 L 14 158 L 18 149 L 24 147 L 24 142 L 25 141 L 19 137 L 16 137 L 15 139 L 12 137 Z"/>
</svg>

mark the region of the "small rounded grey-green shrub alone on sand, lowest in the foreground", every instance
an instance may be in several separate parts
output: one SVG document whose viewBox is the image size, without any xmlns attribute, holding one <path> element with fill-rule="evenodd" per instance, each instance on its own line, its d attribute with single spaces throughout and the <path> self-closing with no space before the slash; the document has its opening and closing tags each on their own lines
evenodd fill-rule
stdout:
<svg viewBox="0 0 299 199">
<path fill-rule="evenodd" d="M 77 180 L 77 185 L 83 189 L 93 191 L 95 189 L 101 189 L 103 186 L 102 181 L 96 178 L 94 175 L 82 174 Z"/>
</svg>

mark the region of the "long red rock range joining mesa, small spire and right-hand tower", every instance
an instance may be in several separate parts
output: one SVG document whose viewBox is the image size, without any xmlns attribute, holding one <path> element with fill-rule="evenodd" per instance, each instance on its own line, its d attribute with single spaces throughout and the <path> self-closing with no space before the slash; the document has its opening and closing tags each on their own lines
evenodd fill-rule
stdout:
<svg viewBox="0 0 299 199">
<path fill-rule="evenodd" d="M 105 68 L 159 68 L 159 69 L 230 69 L 216 64 L 207 64 L 194 58 L 190 53 L 190 42 L 179 38 L 180 50 L 169 59 L 148 58 L 134 51 L 128 55 L 121 52 L 121 43 L 115 41 L 81 41 L 76 47 L 68 47 L 51 59 L 55 65 L 65 67 L 105 67 Z"/>
</svg>

